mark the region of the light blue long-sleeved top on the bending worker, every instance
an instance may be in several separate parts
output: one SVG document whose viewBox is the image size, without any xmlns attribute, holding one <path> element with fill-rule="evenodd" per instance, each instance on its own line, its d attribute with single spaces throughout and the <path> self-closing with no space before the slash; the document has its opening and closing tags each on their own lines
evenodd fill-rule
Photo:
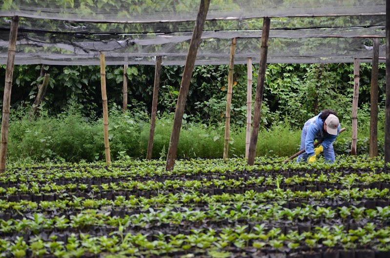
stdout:
<svg viewBox="0 0 390 258">
<path fill-rule="evenodd" d="M 324 122 L 320 118 L 320 114 L 317 116 L 308 119 L 304 125 L 304 130 L 306 130 L 306 139 L 305 139 L 305 151 L 308 154 L 308 157 L 314 155 L 314 140 L 323 140 L 321 143 L 324 150 L 329 147 L 329 145 L 336 139 L 337 135 L 340 133 L 340 124 L 337 127 L 337 135 L 330 135 L 327 132 L 324 132 Z"/>
</svg>

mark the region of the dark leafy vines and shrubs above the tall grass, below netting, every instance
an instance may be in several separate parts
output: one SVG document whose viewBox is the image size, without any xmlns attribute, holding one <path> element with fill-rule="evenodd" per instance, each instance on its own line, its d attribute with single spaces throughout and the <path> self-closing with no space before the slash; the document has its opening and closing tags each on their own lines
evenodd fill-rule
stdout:
<svg viewBox="0 0 390 258">
<path fill-rule="evenodd" d="M 385 64 L 379 70 L 379 101 L 385 101 Z M 41 66 L 20 65 L 14 72 L 12 106 L 31 105 L 41 82 Z M 50 74 L 42 108 L 49 115 L 57 115 L 77 102 L 82 115 L 96 119 L 102 112 L 100 72 L 98 66 L 44 66 Z M 107 66 L 107 95 L 110 106 L 122 105 L 123 67 Z M 255 64 L 253 97 L 258 65 Z M 360 69 L 359 112 L 360 121 L 367 119 L 370 98 L 371 66 L 362 63 Z M 186 115 L 191 120 L 217 123 L 224 120 L 226 108 L 227 66 L 196 66 L 190 85 Z M 174 112 L 182 66 L 164 66 L 161 73 L 158 110 Z M 5 65 L 0 69 L 0 86 L 4 83 Z M 154 67 L 131 66 L 127 69 L 129 110 L 149 112 L 153 94 Z M 232 123 L 243 125 L 246 121 L 246 65 L 236 65 L 234 70 Z M 294 127 L 325 108 L 339 113 L 342 123 L 350 123 L 353 93 L 353 64 L 268 64 L 262 117 L 265 124 L 288 119 Z"/>
</svg>

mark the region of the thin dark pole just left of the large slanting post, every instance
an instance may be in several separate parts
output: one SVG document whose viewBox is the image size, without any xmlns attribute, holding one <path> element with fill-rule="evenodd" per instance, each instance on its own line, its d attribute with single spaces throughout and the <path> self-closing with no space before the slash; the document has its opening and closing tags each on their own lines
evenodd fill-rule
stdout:
<svg viewBox="0 0 390 258">
<path fill-rule="evenodd" d="M 154 129 L 156 127 L 156 115 L 157 115 L 157 100 L 159 97 L 159 85 L 160 85 L 160 74 L 161 74 L 161 56 L 156 57 L 156 67 L 154 70 L 154 87 L 153 87 L 153 100 L 152 100 L 152 114 L 150 119 L 150 132 L 149 142 L 147 144 L 146 159 L 152 158 L 153 140 L 154 140 Z"/>
</svg>

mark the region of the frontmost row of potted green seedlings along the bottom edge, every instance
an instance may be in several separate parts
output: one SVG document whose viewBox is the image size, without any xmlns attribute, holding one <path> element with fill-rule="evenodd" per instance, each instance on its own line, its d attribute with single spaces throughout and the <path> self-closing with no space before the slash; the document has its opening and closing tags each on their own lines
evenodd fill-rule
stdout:
<svg viewBox="0 0 390 258">
<path fill-rule="evenodd" d="M 250 253 L 259 254 L 260 252 L 263 254 L 281 252 L 284 257 L 286 254 L 288 257 L 296 257 L 294 256 L 296 253 L 307 252 L 308 255 L 317 255 L 314 257 L 318 257 L 318 254 L 319 257 L 324 257 L 321 256 L 320 252 L 324 255 L 329 248 L 333 250 L 333 255 L 334 251 L 338 255 L 344 251 L 345 253 L 341 253 L 341 257 L 349 257 L 346 256 L 348 254 L 356 256 L 357 252 L 359 253 L 358 257 L 382 258 L 386 257 L 384 255 L 390 254 L 388 251 L 379 252 L 386 249 L 388 245 L 389 227 L 375 229 L 372 224 L 368 224 L 355 230 L 346 230 L 342 225 L 324 225 L 313 228 L 311 231 L 291 230 L 287 233 L 282 233 L 281 228 L 278 227 L 266 229 L 265 224 L 253 225 L 250 231 L 247 228 L 248 226 L 233 225 L 233 227 L 224 227 L 218 232 L 213 228 L 198 228 L 187 230 L 185 233 L 188 234 L 175 231 L 151 234 L 153 232 L 146 233 L 146 230 L 139 231 L 139 233 L 129 232 L 128 225 L 124 224 L 121 229 L 118 228 L 116 231 L 93 235 L 66 231 L 41 232 L 41 234 L 31 237 L 24 234 L 1 238 L 0 252 L 3 255 L 7 255 L 8 252 L 9 256 L 13 255 L 14 257 L 21 257 L 17 255 L 17 252 L 23 254 L 22 251 L 24 254 L 29 252 L 31 256 L 39 257 L 45 254 L 55 254 L 62 257 L 61 252 L 71 253 L 72 256 L 77 254 L 77 257 L 82 257 L 82 255 L 94 257 L 122 251 L 126 255 L 144 257 L 147 254 L 175 254 L 179 250 L 185 250 L 185 253 L 194 253 L 197 252 L 198 248 L 205 249 L 206 252 L 221 248 L 237 252 L 231 248 L 235 247 L 240 250 L 240 253 L 246 254 L 248 252 L 243 257 L 250 257 L 248 256 Z M 360 252 L 359 249 L 369 251 Z M 369 256 L 361 256 L 364 254 Z"/>
</svg>

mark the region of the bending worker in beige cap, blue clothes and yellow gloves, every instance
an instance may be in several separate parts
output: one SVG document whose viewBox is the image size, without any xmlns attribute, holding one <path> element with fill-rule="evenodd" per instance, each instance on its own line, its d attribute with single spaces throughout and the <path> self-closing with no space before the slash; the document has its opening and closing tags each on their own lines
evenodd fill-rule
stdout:
<svg viewBox="0 0 390 258">
<path fill-rule="evenodd" d="M 305 152 L 298 156 L 297 162 L 307 161 L 312 163 L 317 155 L 324 152 L 325 160 L 333 163 L 335 160 L 333 141 L 340 133 L 340 121 L 337 112 L 331 109 L 321 111 L 317 116 L 308 119 L 302 129 L 301 151 Z M 314 140 L 323 140 L 320 146 L 314 148 Z M 309 159 L 308 159 L 309 158 Z"/>
</svg>

